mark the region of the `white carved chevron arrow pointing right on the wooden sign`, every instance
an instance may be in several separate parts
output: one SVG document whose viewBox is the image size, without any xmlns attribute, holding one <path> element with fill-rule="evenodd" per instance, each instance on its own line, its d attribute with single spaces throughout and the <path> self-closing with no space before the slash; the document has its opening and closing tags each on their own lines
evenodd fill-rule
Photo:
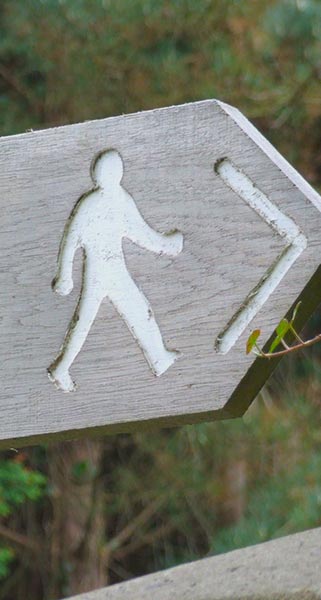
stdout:
<svg viewBox="0 0 321 600">
<path fill-rule="evenodd" d="M 217 161 L 215 171 L 226 185 L 255 210 L 286 242 L 281 255 L 218 336 L 216 350 L 220 354 L 226 354 L 305 250 L 307 239 L 294 221 L 282 213 L 232 161 L 227 158 Z"/>
</svg>

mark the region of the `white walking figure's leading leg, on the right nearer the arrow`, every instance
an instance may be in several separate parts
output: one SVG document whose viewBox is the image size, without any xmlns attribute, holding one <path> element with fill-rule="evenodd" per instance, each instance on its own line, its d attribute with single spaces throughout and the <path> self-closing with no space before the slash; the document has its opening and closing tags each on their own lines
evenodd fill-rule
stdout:
<svg viewBox="0 0 321 600">
<path fill-rule="evenodd" d="M 179 352 L 165 347 L 153 311 L 127 270 L 119 272 L 117 282 L 108 289 L 108 297 L 137 340 L 152 371 L 155 375 L 164 373 Z"/>
</svg>

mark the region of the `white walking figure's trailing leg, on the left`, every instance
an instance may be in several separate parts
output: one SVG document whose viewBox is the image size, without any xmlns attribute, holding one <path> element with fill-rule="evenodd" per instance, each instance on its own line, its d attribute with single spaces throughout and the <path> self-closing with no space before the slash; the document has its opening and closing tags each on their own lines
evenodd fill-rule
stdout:
<svg viewBox="0 0 321 600">
<path fill-rule="evenodd" d="M 95 285 L 91 286 L 87 281 L 83 287 L 61 351 L 48 369 L 49 379 L 65 392 L 75 389 L 69 368 L 80 352 L 103 300 L 103 294 L 97 292 L 97 287 L 95 290 Z"/>
</svg>

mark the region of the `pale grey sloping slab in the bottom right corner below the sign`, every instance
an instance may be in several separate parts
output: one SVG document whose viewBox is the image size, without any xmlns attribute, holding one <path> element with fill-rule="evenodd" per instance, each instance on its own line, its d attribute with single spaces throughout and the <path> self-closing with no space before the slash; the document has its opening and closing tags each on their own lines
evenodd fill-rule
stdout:
<svg viewBox="0 0 321 600">
<path fill-rule="evenodd" d="M 289 535 L 70 600 L 320 600 L 320 533 Z"/>
</svg>

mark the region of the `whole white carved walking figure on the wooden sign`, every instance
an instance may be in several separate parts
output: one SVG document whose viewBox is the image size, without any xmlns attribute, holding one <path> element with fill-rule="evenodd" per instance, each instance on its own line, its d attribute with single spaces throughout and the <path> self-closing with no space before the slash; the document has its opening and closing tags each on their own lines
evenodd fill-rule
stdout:
<svg viewBox="0 0 321 600">
<path fill-rule="evenodd" d="M 73 288 L 72 267 L 77 248 L 84 254 L 80 298 L 56 360 L 48 369 L 55 385 L 72 391 L 69 369 L 80 352 L 104 298 L 109 298 L 141 347 L 155 375 L 164 373 L 179 352 L 163 342 L 151 306 L 131 278 L 122 248 L 123 238 L 155 252 L 177 256 L 183 235 L 159 233 L 149 227 L 132 196 L 122 187 L 123 162 L 116 150 L 102 153 L 92 168 L 95 188 L 80 198 L 65 227 L 53 289 L 62 296 Z"/>
</svg>

